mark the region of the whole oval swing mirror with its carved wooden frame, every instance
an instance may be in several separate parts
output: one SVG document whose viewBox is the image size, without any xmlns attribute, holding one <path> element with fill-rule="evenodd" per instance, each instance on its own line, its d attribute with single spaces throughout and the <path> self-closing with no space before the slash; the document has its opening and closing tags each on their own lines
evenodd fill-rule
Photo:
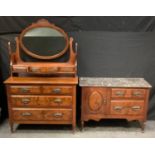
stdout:
<svg viewBox="0 0 155 155">
<path fill-rule="evenodd" d="M 37 59 L 54 59 L 68 49 L 67 34 L 43 20 L 25 29 L 20 36 L 21 47 L 29 56 Z"/>
</svg>

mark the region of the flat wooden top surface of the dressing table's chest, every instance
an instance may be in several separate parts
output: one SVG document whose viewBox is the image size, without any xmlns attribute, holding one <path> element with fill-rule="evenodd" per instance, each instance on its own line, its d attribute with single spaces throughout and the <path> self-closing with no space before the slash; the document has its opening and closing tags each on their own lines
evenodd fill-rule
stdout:
<svg viewBox="0 0 155 155">
<path fill-rule="evenodd" d="M 5 84 L 77 84 L 77 77 L 9 77 Z"/>
</svg>

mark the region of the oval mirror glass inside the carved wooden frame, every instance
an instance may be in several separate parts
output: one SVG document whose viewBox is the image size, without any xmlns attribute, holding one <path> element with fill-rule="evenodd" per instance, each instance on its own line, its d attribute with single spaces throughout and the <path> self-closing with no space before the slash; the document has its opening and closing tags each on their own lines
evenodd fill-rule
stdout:
<svg viewBox="0 0 155 155">
<path fill-rule="evenodd" d="M 64 35 L 50 27 L 37 27 L 27 31 L 22 43 L 27 50 L 39 56 L 54 56 L 66 47 Z"/>
</svg>

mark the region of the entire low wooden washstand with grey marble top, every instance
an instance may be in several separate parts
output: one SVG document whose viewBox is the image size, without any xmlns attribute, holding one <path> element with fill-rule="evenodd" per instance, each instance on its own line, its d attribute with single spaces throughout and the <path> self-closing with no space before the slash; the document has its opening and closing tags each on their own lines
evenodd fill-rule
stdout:
<svg viewBox="0 0 155 155">
<path fill-rule="evenodd" d="M 142 78 L 80 78 L 81 125 L 88 120 L 138 120 L 142 130 L 147 118 L 151 85 Z"/>
</svg>

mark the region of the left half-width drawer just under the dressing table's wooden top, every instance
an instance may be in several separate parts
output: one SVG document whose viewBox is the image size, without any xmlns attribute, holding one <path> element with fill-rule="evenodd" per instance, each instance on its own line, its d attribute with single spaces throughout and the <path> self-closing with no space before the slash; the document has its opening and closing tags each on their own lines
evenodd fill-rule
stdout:
<svg viewBox="0 0 155 155">
<path fill-rule="evenodd" d="M 40 94 L 40 86 L 10 86 L 12 94 Z"/>
</svg>

